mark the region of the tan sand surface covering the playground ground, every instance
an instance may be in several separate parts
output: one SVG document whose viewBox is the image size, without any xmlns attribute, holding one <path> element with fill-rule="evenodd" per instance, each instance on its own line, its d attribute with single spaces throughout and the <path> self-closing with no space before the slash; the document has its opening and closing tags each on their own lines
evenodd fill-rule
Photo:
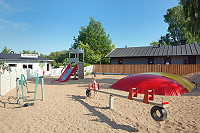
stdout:
<svg viewBox="0 0 200 133">
<path fill-rule="evenodd" d="M 110 89 L 110 86 L 126 75 L 97 75 L 101 90 L 128 95 L 127 92 Z M 58 77 L 45 77 L 45 99 L 41 101 L 41 88 L 34 106 L 16 104 L 16 89 L 0 98 L 0 133 L 200 133 L 200 91 L 197 89 L 184 96 L 155 96 L 155 101 L 168 101 L 167 119 L 152 119 L 152 105 L 114 97 L 114 109 L 109 109 L 109 95 L 85 98 L 85 91 L 92 75 L 84 79 L 52 84 Z M 189 76 L 198 81 L 199 75 Z M 35 79 L 28 81 L 31 90 Z M 200 81 L 199 81 L 200 82 Z M 33 95 L 25 93 L 26 98 Z M 21 91 L 20 91 L 21 97 Z M 143 97 L 143 95 L 139 95 Z"/>
</svg>

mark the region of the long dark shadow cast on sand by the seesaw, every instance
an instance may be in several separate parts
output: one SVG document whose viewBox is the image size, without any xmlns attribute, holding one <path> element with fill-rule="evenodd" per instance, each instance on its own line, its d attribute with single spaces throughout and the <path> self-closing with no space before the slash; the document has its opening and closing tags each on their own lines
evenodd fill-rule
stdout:
<svg viewBox="0 0 200 133">
<path fill-rule="evenodd" d="M 98 107 L 91 106 L 88 103 L 84 102 L 82 99 L 85 99 L 85 97 L 83 97 L 83 96 L 72 95 L 72 99 L 80 102 L 83 106 L 85 106 L 92 113 L 92 115 L 95 115 L 99 118 L 99 120 L 95 119 L 93 121 L 106 123 L 109 126 L 111 126 L 113 129 L 121 129 L 121 130 L 125 130 L 127 132 L 139 132 L 139 130 L 137 130 L 137 129 L 131 127 L 131 126 L 120 125 L 120 124 L 117 124 L 115 121 L 112 121 L 106 115 L 102 114 L 101 112 L 99 112 L 95 109 L 95 108 L 98 108 Z M 107 109 L 107 108 L 100 108 L 100 109 Z M 86 115 L 88 115 L 88 114 L 86 114 Z"/>
</svg>

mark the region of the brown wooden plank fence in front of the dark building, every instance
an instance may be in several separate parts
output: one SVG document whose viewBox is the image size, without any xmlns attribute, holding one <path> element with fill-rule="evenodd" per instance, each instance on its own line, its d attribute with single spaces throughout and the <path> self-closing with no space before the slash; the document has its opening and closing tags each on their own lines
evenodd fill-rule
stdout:
<svg viewBox="0 0 200 133">
<path fill-rule="evenodd" d="M 200 65 L 94 65 L 94 72 L 99 73 L 144 73 L 167 72 L 177 75 L 186 75 L 200 72 Z"/>
</svg>

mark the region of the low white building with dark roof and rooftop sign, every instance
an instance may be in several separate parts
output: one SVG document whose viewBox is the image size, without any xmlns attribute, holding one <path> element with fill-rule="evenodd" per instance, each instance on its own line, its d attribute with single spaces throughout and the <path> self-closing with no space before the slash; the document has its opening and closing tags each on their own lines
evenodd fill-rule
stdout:
<svg viewBox="0 0 200 133">
<path fill-rule="evenodd" d="M 38 56 L 37 54 L 4 54 L 0 53 L 0 61 L 6 61 L 12 71 L 29 69 L 29 78 L 51 74 L 51 62 L 53 60 Z M 0 68 L 1 70 L 1 68 Z M 2 70 L 1 70 L 2 71 Z"/>
</svg>

